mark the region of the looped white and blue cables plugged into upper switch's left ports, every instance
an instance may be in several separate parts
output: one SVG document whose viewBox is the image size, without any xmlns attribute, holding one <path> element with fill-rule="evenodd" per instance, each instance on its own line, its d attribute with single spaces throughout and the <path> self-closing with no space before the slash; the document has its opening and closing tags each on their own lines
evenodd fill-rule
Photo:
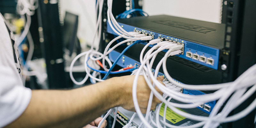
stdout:
<svg viewBox="0 0 256 128">
<path fill-rule="evenodd" d="M 125 51 L 127 51 L 130 47 L 132 47 L 134 44 L 138 44 L 140 43 L 140 41 L 137 41 L 137 40 L 151 40 L 152 39 L 152 36 L 145 36 L 144 34 L 141 35 L 139 34 L 138 32 L 127 32 L 125 31 L 115 20 L 112 12 L 110 9 L 108 9 L 108 23 L 110 24 L 110 27 L 112 29 L 114 29 L 119 36 L 117 36 L 116 38 L 114 38 L 112 41 L 110 41 L 108 43 L 108 45 L 106 46 L 105 48 L 105 51 L 104 53 L 100 53 L 100 52 L 97 52 L 99 50 L 99 46 L 96 46 L 95 47 L 95 50 L 94 50 L 94 41 L 95 41 L 95 38 L 96 38 L 96 35 L 100 35 L 101 33 L 101 14 L 102 14 L 102 7 L 103 7 L 103 2 L 104 0 L 98 0 L 97 3 L 96 3 L 96 11 L 98 10 L 99 8 L 99 15 L 98 15 L 98 20 L 97 20 L 97 23 L 96 23 L 96 31 L 94 33 L 94 39 L 93 39 L 93 43 L 92 43 L 92 46 L 91 46 L 91 50 L 89 51 L 86 51 L 86 52 L 83 52 L 83 53 L 80 53 L 79 55 L 77 55 L 75 57 L 75 59 L 71 62 L 71 65 L 70 65 L 70 69 L 69 69 L 69 75 L 70 75 L 70 78 L 71 80 L 75 83 L 75 84 L 78 84 L 78 85 L 81 85 L 81 84 L 84 84 L 85 81 L 90 77 L 93 81 L 104 81 L 107 76 L 111 73 L 113 74 L 116 74 L 116 73 L 123 73 L 123 72 L 128 72 L 127 70 L 124 70 L 124 71 L 117 71 L 117 72 L 111 72 L 111 70 L 114 68 L 114 66 L 116 65 L 117 61 L 121 58 L 121 56 L 124 54 Z M 110 6 L 110 4 L 112 5 L 112 1 L 111 2 L 108 2 L 108 6 Z M 109 13 L 111 12 L 111 13 Z M 113 24 L 112 24 L 113 23 Z M 114 28 L 114 27 L 116 28 Z M 120 32 L 120 33 L 119 33 Z M 100 37 L 100 36 L 99 36 Z M 116 44 L 115 46 L 113 46 L 111 49 L 109 49 L 110 45 L 113 44 L 116 40 L 120 39 L 120 38 L 126 38 L 126 40 Z M 98 41 L 100 41 L 100 39 L 98 39 Z M 120 55 L 119 55 L 119 59 L 116 60 L 116 62 L 114 62 L 114 64 L 112 65 L 111 61 L 108 59 L 107 55 L 113 51 L 116 47 L 120 46 L 121 44 L 124 44 L 124 43 L 127 43 L 127 42 L 134 42 L 132 43 L 131 45 L 129 45 Z M 109 50 L 108 50 L 109 49 Z M 84 59 L 84 66 L 85 66 L 85 72 L 86 72 L 86 76 L 84 77 L 84 79 L 81 81 L 81 82 L 77 82 L 75 80 L 75 78 L 73 77 L 73 74 L 72 74 L 72 69 L 73 69 L 73 66 L 74 66 L 74 63 L 76 60 L 78 60 L 80 57 L 82 56 L 85 56 L 85 59 Z M 93 69 L 87 62 L 89 60 L 93 60 L 93 61 L 97 61 L 97 60 L 101 60 L 102 59 L 102 68 L 105 70 L 105 71 L 100 71 L 100 70 L 95 70 Z M 108 62 L 108 65 L 110 67 L 110 69 L 107 69 L 106 68 L 106 65 L 105 65 L 105 60 Z M 98 72 L 101 72 L 101 73 L 106 73 L 106 75 L 102 78 L 102 79 L 99 79 L 99 78 L 96 78 L 95 75 L 96 73 L 94 73 L 94 76 L 90 74 L 90 69 L 94 70 L 94 71 L 98 71 Z M 129 71 L 132 71 L 133 69 L 129 69 Z M 91 80 L 91 81 L 92 81 Z"/>
</svg>

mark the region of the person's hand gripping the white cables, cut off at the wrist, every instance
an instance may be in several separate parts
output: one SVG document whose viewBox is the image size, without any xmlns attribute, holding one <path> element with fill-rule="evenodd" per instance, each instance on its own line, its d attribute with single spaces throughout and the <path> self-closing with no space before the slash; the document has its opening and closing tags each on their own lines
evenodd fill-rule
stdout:
<svg viewBox="0 0 256 128">
<path fill-rule="evenodd" d="M 120 90 L 121 94 L 121 107 L 124 109 L 135 111 L 133 100 L 132 100 L 132 84 L 134 76 L 121 76 L 121 77 L 114 77 L 116 79 L 116 83 L 123 83 L 123 90 Z M 157 77 L 157 80 L 162 83 L 164 80 L 164 77 Z M 162 83 L 163 84 L 163 83 Z M 160 93 L 163 94 L 157 87 L 155 89 Z M 148 84 L 146 83 L 143 76 L 139 76 L 138 79 L 138 85 L 137 85 L 137 99 L 140 106 L 140 110 L 142 113 L 146 113 L 147 107 L 148 107 L 148 99 L 150 95 L 150 88 L 148 87 Z M 151 110 L 154 110 L 156 108 L 156 104 L 161 103 L 160 100 L 158 100 L 155 96 L 153 97 Z"/>
</svg>

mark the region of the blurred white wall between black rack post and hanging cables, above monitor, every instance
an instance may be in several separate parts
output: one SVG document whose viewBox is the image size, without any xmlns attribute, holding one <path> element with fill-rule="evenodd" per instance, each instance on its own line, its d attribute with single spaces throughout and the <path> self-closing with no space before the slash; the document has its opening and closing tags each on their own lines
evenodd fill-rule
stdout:
<svg viewBox="0 0 256 128">
<path fill-rule="evenodd" d="M 65 12 L 71 12 L 79 16 L 77 36 L 81 47 L 91 45 L 96 26 L 95 0 L 60 0 L 60 16 Z"/>
</svg>

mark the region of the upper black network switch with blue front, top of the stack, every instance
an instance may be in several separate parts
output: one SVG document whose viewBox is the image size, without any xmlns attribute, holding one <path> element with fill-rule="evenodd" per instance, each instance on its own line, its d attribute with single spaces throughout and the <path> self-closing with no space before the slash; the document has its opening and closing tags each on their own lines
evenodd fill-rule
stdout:
<svg viewBox="0 0 256 128">
<path fill-rule="evenodd" d="M 224 47 L 224 24 L 167 15 L 135 17 L 117 21 L 126 31 L 137 31 L 152 36 L 154 39 L 161 38 L 183 44 L 183 52 L 176 56 L 218 69 L 220 49 Z M 109 25 L 107 32 L 116 35 Z"/>
</svg>

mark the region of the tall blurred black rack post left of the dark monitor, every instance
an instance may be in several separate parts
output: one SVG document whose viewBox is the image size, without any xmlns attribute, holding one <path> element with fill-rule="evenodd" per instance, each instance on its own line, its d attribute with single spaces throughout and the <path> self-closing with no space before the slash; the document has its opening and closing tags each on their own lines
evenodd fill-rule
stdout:
<svg viewBox="0 0 256 128">
<path fill-rule="evenodd" d="M 50 89 L 68 88 L 63 59 L 63 38 L 60 26 L 58 1 L 39 0 L 39 41 L 44 50 Z"/>
</svg>

